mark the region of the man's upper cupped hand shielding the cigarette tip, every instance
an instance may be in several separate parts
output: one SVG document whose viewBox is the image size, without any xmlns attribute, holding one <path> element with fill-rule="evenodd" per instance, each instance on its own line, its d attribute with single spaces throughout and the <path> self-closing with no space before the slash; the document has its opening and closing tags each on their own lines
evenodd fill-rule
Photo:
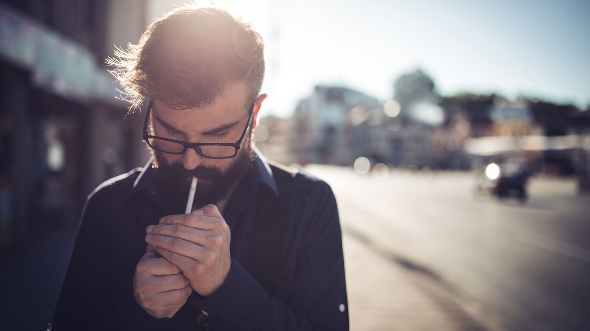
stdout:
<svg viewBox="0 0 590 331">
<path fill-rule="evenodd" d="M 197 293 L 211 296 L 225 282 L 231 267 L 230 228 L 214 205 L 162 217 L 147 231 L 146 241 L 182 270 Z"/>
</svg>

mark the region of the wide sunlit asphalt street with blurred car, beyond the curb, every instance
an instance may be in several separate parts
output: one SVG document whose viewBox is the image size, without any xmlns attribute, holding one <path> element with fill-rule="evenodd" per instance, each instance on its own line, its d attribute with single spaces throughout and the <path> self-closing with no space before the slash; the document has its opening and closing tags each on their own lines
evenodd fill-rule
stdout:
<svg viewBox="0 0 590 331">
<path fill-rule="evenodd" d="M 336 194 L 347 263 L 347 245 L 356 238 L 394 257 L 378 263 L 401 264 L 444 284 L 486 328 L 588 329 L 590 198 L 576 196 L 575 181 L 533 178 L 522 205 L 474 194 L 471 173 L 305 170 Z M 354 306 L 362 279 L 349 277 L 346 267 L 351 329 L 363 329 L 368 317 Z"/>
</svg>

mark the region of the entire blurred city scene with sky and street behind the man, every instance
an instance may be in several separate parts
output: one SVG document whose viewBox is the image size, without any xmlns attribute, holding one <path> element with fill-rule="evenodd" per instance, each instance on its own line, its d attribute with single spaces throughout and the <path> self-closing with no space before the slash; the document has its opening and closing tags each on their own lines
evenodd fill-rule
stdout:
<svg viewBox="0 0 590 331">
<path fill-rule="evenodd" d="M 6 330 L 47 327 L 88 194 L 148 160 L 102 64 L 173 4 L 0 1 Z M 590 327 L 589 2 L 227 6 L 266 44 L 258 148 L 336 194 L 351 329 Z"/>
</svg>

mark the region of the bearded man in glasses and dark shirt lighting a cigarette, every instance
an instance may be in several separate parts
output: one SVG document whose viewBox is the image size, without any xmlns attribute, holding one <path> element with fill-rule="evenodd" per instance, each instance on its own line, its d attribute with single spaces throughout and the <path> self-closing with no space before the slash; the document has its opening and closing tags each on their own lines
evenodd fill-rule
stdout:
<svg viewBox="0 0 590 331">
<path fill-rule="evenodd" d="M 348 329 L 332 190 L 251 139 L 260 35 L 185 5 L 115 54 L 130 108 L 147 104 L 153 156 L 90 194 L 53 330 Z"/>
</svg>

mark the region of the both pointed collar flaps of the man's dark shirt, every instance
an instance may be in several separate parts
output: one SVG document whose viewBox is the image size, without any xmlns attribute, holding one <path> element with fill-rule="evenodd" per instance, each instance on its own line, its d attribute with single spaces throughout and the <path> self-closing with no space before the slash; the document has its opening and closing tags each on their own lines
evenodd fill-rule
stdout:
<svg viewBox="0 0 590 331">
<path fill-rule="evenodd" d="M 254 150 L 253 171 L 248 171 L 247 174 L 252 174 L 252 176 L 255 177 L 253 178 L 255 181 L 265 184 L 278 197 L 278 187 L 277 182 L 273 177 L 273 170 L 268 165 L 266 157 L 260 153 L 260 150 L 258 150 L 256 145 L 253 144 L 252 148 Z M 133 183 L 130 196 L 139 190 L 147 190 L 148 195 L 155 195 L 156 191 L 158 191 L 158 187 L 156 187 L 155 180 L 153 178 L 154 169 L 152 168 L 152 162 L 153 155 L 150 157 L 145 167 L 143 167 L 142 171 L 139 173 L 139 176 L 137 176 L 135 183 Z"/>
</svg>

